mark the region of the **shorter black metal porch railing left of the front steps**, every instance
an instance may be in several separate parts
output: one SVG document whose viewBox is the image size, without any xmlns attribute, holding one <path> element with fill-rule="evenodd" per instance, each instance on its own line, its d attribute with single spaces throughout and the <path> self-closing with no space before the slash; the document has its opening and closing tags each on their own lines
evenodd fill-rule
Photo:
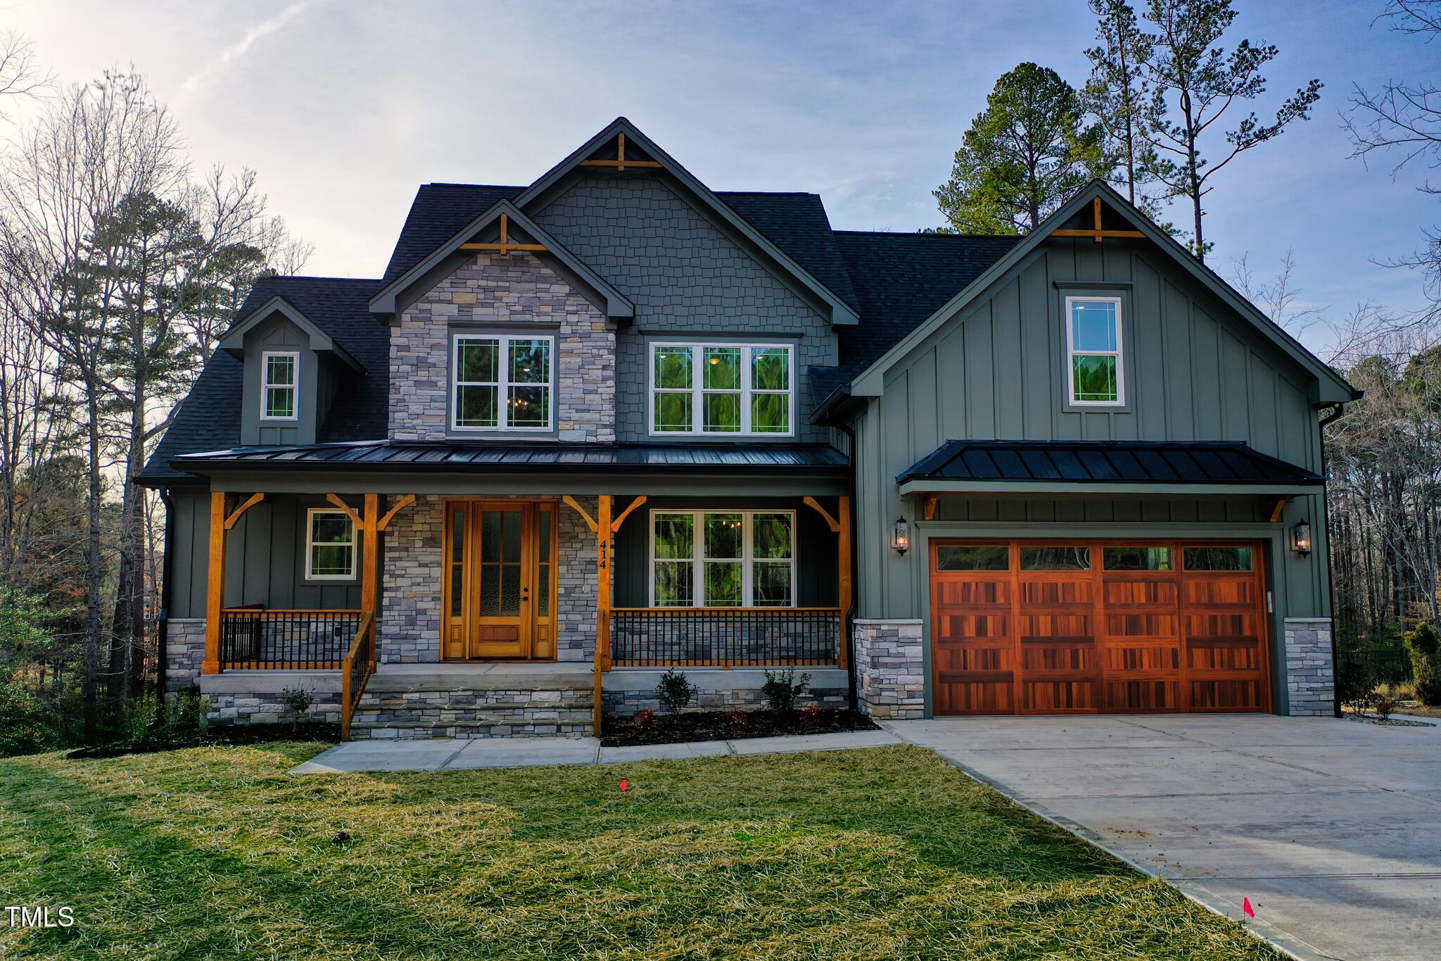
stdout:
<svg viewBox="0 0 1441 961">
<path fill-rule="evenodd" d="M 220 670 L 336 670 L 346 658 L 360 611 L 220 612 Z"/>
</svg>

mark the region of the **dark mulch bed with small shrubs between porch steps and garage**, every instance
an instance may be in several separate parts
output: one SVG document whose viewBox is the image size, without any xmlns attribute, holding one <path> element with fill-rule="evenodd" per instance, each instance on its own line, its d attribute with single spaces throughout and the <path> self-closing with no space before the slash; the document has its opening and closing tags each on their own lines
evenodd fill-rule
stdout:
<svg viewBox="0 0 1441 961">
<path fill-rule="evenodd" d="M 736 741 L 878 729 L 870 718 L 849 707 L 824 709 L 813 715 L 774 710 L 697 710 L 683 715 L 656 715 L 647 728 L 638 728 L 635 719 L 627 715 L 605 715 L 601 743 L 607 748 L 628 748 L 684 741 Z"/>
</svg>

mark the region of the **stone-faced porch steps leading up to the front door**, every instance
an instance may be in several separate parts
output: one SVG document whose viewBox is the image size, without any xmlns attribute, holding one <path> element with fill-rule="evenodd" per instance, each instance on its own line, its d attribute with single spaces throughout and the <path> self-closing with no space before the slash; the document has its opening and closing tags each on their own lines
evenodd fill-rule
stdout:
<svg viewBox="0 0 1441 961">
<path fill-rule="evenodd" d="M 382 664 L 350 736 L 582 738 L 592 705 L 592 674 L 576 664 Z"/>
</svg>

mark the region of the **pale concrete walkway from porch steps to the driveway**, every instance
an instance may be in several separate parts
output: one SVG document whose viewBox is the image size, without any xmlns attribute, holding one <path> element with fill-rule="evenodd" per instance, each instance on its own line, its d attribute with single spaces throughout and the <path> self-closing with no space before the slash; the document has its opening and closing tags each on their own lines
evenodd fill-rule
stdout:
<svg viewBox="0 0 1441 961">
<path fill-rule="evenodd" d="M 696 741 L 638 748 L 602 748 L 597 738 L 477 738 L 474 741 L 349 741 L 294 768 L 291 774 L 342 771 L 464 771 L 532 768 L 555 764 L 621 764 L 719 755 L 849 751 L 902 743 L 886 730 L 836 735 Z"/>
</svg>

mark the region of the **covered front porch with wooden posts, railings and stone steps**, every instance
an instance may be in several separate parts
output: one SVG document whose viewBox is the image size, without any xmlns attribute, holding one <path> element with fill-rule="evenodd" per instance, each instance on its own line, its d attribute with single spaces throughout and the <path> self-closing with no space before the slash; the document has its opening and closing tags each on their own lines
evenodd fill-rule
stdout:
<svg viewBox="0 0 1441 961">
<path fill-rule="evenodd" d="M 697 707 L 758 705 L 768 667 L 810 671 L 817 703 L 846 700 L 852 592 L 843 496 L 718 504 L 611 494 L 321 500 L 215 491 L 209 500 L 197 660 L 202 692 L 235 707 L 222 720 L 269 719 L 282 702 L 281 676 L 297 673 L 304 686 L 327 689 L 317 705 L 337 702 L 347 738 L 592 733 L 602 710 L 654 706 L 656 681 L 669 667 L 692 674 Z M 284 536 L 277 519 L 317 511 L 331 517 L 290 536 L 303 542 L 305 565 L 318 558 L 353 584 L 323 582 L 329 586 L 284 598 L 316 607 L 271 607 L 278 595 L 267 585 L 281 572 L 268 562 L 278 555 L 259 545 Z M 692 586 L 679 589 L 695 596 L 656 602 L 646 586 L 657 576 L 654 532 L 674 529 L 677 519 L 697 543 L 684 560 L 667 558 L 660 573 L 686 566 Z M 349 533 L 321 543 L 321 524 L 344 520 Z M 718 553 L 716 532 L 729 532 L 736 546 Z M 765 546 L 752 546 L 752 537 Z M 673 549 L 663 545 L 663 553 Z M 696 586 L 702 581 L 706 586 Z"/>
</svg>

